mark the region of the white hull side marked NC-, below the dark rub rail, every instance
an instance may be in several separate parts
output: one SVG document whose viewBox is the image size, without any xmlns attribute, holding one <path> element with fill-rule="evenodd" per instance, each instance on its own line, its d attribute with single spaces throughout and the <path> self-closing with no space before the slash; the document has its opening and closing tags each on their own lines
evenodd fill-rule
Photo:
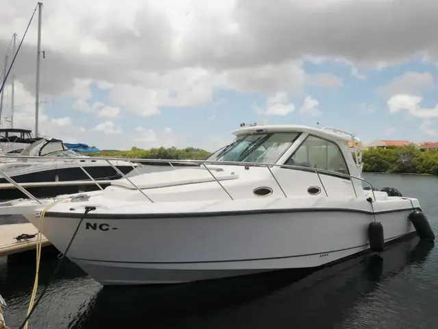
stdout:
<svg viewBox="0 0 438 329">
<path fill-rule="evenodd" d="M 385 243 L 415 232 L 412 209 L 376 214 Z M 372 214 L 301 211 L 214 217 L 84 219 L 68 258 L 103 285 L 168 284 L 320 267 L 370 249 Z M 40 218 L 26 216 L 35 226 Z M 44 218 L 64 252 L 79 218 Z"/>
</svg>

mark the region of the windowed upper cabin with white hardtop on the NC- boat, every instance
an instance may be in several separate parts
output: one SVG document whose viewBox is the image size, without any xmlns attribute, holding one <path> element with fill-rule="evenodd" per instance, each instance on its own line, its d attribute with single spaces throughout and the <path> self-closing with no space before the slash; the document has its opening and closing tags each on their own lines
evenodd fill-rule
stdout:
<svg viewBox="0 0 438 329">
<path fill-rule="evenodd" d="M 207 160 L 285 164 L 360 177 L 361 168 L 352 157 L 355 149 L 349 146 L 355 137 L 350 133 L 300 125 L 262 125 L 242 127 L 233 134 L 235 140 Z"/>
</svg>

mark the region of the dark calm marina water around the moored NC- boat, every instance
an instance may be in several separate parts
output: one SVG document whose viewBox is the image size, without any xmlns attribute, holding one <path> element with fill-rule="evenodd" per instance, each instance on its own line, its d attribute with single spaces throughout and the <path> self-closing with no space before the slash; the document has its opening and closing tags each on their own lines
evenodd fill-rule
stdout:
<svg viewBox="0 0 438 329">
<path fill-rule="evenodd" d="M 437 234 L 438 178 L 364 174 L 378 188 L 418 197 Z M 438 234 L 437 234 L 438 236 Z M 105 288 L 68 260 L 29 328 L 436 328 L 438 252 L 417 238 L 380 258 L 361 256 L 297 277 L 294 271 L 166 287 Z M 57 260 L 41 264 L 40 287 Z M 0 258 L 0 292 L 11 329 L 25 317 L 32 264 Z"/>
</svg>

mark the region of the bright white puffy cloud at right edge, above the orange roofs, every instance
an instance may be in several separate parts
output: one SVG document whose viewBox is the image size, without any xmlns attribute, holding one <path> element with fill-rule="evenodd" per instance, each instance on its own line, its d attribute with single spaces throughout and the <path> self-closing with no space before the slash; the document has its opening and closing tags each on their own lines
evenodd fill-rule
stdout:
<svg viewBox="0 0 438 329">
<path fill-rule="evenodd" d="M 438 105 L 435 108 L 422 108 L 422 97 L 412 95 L 395 95 L 388 101 L 389 112 L 396 113 L 406 110 L 411 116 L 428 119 L 438 117 Z"/>
</svg>

